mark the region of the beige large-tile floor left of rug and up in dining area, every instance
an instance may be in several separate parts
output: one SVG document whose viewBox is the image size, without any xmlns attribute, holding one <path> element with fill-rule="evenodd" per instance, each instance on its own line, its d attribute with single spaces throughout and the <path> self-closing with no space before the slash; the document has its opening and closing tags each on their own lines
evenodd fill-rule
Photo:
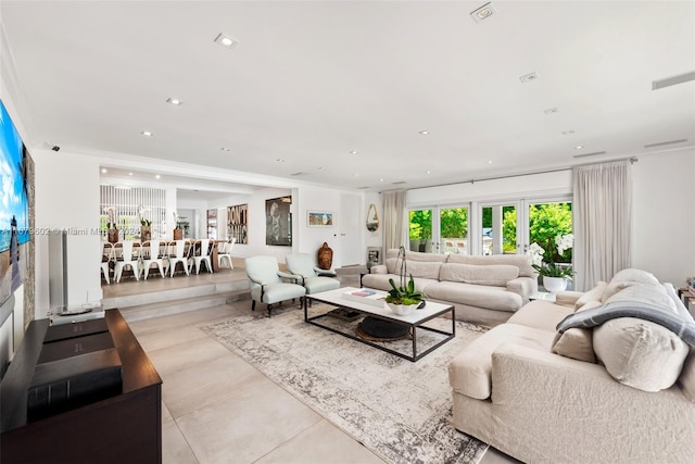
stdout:
<svg viewBox="0 0 695 464">
<path fill-rule="evenodd" d="M 237 267 L 227 278 L 245 278 Z M 222 274 L 222 273 L 220 273 Z M 220 274 L 214 278 L 220 278 Z M 211 276 L 211 278 L 213 278 Z M 122 281 L 110 296 L 189 285 L 187 277 Z M 198 279 L 201 280 L 201 279 Z M 249 300 L 130 323 L 162 387 L 164 463 L 382 463 L 349 435 L 198 327 L 251 311 Z M 491 449 L 482 464 L 510 463 Z"/>
</svg>

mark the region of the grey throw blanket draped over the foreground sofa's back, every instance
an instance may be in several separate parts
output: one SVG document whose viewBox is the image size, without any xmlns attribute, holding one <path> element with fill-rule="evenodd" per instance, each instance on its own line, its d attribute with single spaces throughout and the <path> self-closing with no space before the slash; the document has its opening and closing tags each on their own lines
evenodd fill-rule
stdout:
<svg viewBox="0 0 695 464">
<path fill-rule="evenodd" d="M 657 305 L 643 301 L 612 301 L 604 305 L 572 313 L 557 325 L 557 331 L 565 333 L 568 328 L 590 328 L 618 317 L 636 317 L 649 321 L 668 328 L 681 339 L 695 347 L 695 322 L 686 319 L 672 311 L 665 311 Z"/>
</svg>

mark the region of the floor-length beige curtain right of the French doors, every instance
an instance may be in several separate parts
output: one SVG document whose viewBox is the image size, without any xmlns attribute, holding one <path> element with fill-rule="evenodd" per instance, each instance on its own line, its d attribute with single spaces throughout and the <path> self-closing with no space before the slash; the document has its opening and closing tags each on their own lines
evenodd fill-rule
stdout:
<svg viewBox="0 0 695 464">
<path fill-rule="evenodd" d="M 573 168 L 574 289 L 587 290 L 631 266 L 630 161 Z"/>
</svg>

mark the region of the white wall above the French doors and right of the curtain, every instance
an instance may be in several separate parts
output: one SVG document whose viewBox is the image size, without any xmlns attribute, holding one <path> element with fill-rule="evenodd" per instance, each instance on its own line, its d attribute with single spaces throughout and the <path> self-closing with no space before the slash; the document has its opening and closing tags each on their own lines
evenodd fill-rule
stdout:
<svg viewBox="0 0 695 464">
<path fill-rule="evenodd" d="M 682 287 L 695 275 L 695 150 L 640 155 L 632 165 L 632 266 Z M 409 206 L 567 195 L 571 171 L 409 190 Z"/>
</svg>

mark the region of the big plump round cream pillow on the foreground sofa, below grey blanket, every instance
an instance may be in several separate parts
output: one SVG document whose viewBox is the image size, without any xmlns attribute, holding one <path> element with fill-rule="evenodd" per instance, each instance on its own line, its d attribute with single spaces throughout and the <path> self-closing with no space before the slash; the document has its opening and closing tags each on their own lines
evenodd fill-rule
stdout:
<svg viewBox="0 0 695 464">
<path fill-rule="evenodd" d="M 634 317 L 595 327 L 593 342 L 596 356 L 616 380 L 644 391 L 671 387 L 690 351 L 671 330 Z"/>
</svg>

